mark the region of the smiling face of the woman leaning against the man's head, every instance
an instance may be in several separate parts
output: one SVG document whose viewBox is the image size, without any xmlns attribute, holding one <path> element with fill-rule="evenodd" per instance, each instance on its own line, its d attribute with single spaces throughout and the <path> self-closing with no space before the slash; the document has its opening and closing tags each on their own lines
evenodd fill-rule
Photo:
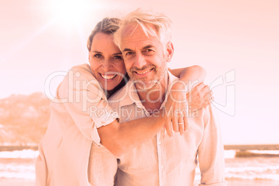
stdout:
<svg viewBox="0 0 279 186">
<path fill-rule="evenodd" d="M 124 60 L 112 35 L 96 33 L 92 40 L 89 62 L 93 75 L 104 90 L 112 90 L 126 74 Z"/>
</svg>

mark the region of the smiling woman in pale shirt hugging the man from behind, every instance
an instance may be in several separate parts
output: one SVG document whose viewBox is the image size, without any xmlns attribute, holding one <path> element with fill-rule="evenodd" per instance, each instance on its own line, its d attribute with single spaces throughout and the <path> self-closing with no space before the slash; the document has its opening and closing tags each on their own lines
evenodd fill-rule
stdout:
<svg viewBox="0 0 279 186">
<path fill-rule="evenodd" d="M 160 110 L 160 117 L 151 116 L 119 124 L 117 112 L 110 109 L 108 97 L 125 85 L 128 78 L 121 51 L 113 43 L 112 35 L 118 28 L 118 22 L 119 19 L 105 18 L 96 25 L 87 42 L 90 65 L 73 67 L 58 86 L 56 103 L 51 103 L 47 133 L 39 145 L 36 185 L 90 185 L 87 169 L 89 157 L 94 159 L 95 151 L 103 153 L 103 160 L 99 164 L 94 163 L 94 166 L 100 167 L 98 174 L 105 174 L 102 167 L 117 166 L 115 155 L 120 156 L 153 137 L 162 130 L 165 119 L 171 119 L 176 125 L 173 127 L 178 127 L 181 117 L 162 116 L 164 110 Z M 180 72 L 184 74 L 183 81 L 186 83 L 196 79 L 203 81 L 205 77 L 205 72 L 199 67 L 173 71 L 176 76 Z M 206 90 L 208 87 L 204 87 L 202 92 L 208 92 Z M 208 103 L 209 94 L 203 95 L 198 102 Z M 178 92 L 174 97 L 186 95 Z M 181 104 L 168 101 L 166 109 L 171 105 L 181 108 Z M 100 110 L 103 114 L 99 113 Z M 183 131 L 180 130 L 180 133 Z M 113 178 L 108 178 L 108 185 L 113 185 Z"/>
</svg>

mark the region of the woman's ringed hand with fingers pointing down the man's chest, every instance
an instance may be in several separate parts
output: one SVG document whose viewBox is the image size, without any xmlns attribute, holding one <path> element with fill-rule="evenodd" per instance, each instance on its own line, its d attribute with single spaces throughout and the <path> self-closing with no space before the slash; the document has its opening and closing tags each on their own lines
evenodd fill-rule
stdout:
<svg viewBox="0 0 279 186">
<path fill-rule="evenodd" d="M 173 136 L 172 129 L 183 135 L 188 128 L 186 85 L 183 81 L 176 81 L 172 85 L 164 107 L 164 114 L 167 115 L 164 126 L 169 137 Z"/>
</svg>

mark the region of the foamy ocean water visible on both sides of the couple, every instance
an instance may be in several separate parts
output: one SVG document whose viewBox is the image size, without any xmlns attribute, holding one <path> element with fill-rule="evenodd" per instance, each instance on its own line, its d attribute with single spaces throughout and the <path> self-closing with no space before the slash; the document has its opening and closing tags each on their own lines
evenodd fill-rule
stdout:
<svg viewBox="0 0 279 186">
<path fill-rule="evenodd" d="M 244 155 L 245 157 L 235 157 L 237 151 L 225 151 L 225 171 L 228 183 L 235 180 L 239 183 L 244 183 L 250 180 L 254 182 L 270 181 L 271 183 L 268 184 L 270 186 L 279 185 L 279 151 L 246 151 L 246 153 L 248 155 Z M 251 156 L 251 153 L 256 155 Z M 38 151 L 30 149 L 22 151 L 1 151 L 0 183 L 3 179 L 35 181 L 35 159 L 38 154 Z M 267 156 L 269 154 L 273 156 Z M 195 180 L 200 179 L 201 174 L 197 167 Z"/>
</svg>

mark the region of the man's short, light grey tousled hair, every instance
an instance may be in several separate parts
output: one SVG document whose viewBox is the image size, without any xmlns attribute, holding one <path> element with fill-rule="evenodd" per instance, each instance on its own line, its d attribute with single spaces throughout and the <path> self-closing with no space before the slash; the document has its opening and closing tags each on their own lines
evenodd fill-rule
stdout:
<svg viewBox="0 0 279 186">
<path fill-rule="evenodd" d="M 121 19 L 119 29 L 114 34 L 114 42 L 119 49 L 121 49 L 122 32 L 124 27 L 129 24 L 134 25 L 134 31 L 137 26 L 141 26 L 147 36 L 158 37 L 162 44 L 171 41 L 171 19 L 160 12 L 139 8 Z M 151 26 L 154 26 L 156 31 Z"/>
</svg>

